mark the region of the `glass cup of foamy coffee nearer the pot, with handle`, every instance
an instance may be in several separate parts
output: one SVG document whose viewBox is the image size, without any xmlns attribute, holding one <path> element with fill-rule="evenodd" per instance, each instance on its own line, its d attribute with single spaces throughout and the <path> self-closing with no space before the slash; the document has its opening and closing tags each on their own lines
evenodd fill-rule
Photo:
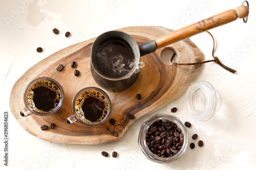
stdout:
<svg viewBox="0 0 256 170">
<path fill-rule="evenodd" d="M 68 125 L 80 122 L 83 125 L 102 124 L 109 116 L 111 103 L 108 94 L 96 87 L 83 88 L 72 101 L 73 115 L 66 119 Z"/>
</svg>

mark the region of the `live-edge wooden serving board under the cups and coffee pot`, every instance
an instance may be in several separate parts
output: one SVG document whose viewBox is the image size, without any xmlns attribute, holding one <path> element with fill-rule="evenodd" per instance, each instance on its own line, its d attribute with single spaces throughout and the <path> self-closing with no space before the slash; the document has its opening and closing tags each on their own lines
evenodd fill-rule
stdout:
<svg viewBox="0 0 256 170">
<path fill-rule="evenodd" d="M 142 26 L 126 27 L 119 31 L 130 34 L 140 45 L 173 30 Z M 96 127 L 85 126 L 81 123 L 67 125 L 66 118 L 72 115 L 71 104 L 76 92 L 89 86 L 101 88 L 95 83 L 90 71 L 90 53 L 94 40 L 95 38 L 83 41 L 52 54 L 31 67 L 14 84 L 10 96 L 10 110 L 26 131 L 41 139 L 59 143 L 99 144 L 120 139 L 137 119 L 179 98 L 190 83 L 196 80 L 202 69 L 202 65 L 174 66 L 164 64 L 161 60 L 161 52 L 166 48 L 171 48 L 178 55 L 178 62 L 201 62 L 204 57 L 203 53 L 189 39 L 160 48 L 140 58 L 145 66 L 141 69 L 133 86 L 120 92 L 103 89 L 109 95 L 112 106 L 111 113 L 103 124 Z M 77 63 L 75 68 L 70 66 L 72 61 Z M 59 64 L 64 66 L 61 71 L 56 70 Z M 75 69 L 80 71 L 78 77 L 74 76 Z M 19 112 L 25 108 L 24 90 L 30 81 L 38 77 L 50 77 L 59 82 L 65 93 L 63 106 L 52 115 L 32 114 L 22 117 Z M 138 93 L 142 95 L 141 100 L 136 98 Z M 128 114 L 134 114 L 135 119 L 129 119 Z M 110 124 L 110 118 L 115 119 L 115 125 Z M 55 124 L 54 129 L 48 128 L 45 131 L 40 129 L 41 125 L 49 126 L 51 123 Z"/>
</svg>

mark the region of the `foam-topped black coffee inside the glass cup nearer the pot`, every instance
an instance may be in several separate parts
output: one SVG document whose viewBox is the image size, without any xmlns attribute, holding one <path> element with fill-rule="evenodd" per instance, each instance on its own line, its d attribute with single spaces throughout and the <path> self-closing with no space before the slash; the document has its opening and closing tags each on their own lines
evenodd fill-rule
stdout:
<svg viewBox="0 0 256 170">
<path fill-rule="evenodd" d="M 82 92 L 75 101 L 75 113 L 87 124 L 101 122 L 110 109 L 108 99 L 97 90 Z"/>
</svg>

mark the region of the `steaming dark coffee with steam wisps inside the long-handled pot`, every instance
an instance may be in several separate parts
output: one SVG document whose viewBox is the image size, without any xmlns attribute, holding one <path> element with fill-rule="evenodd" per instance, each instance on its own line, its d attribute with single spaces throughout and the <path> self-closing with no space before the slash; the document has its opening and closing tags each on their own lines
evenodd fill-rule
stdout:
<svg viewBox="0 0 256 170">
<path fill-rule="evenodd" d="M 125 76 L 134 67 L 134 53 L 130 45 L 127 48 L 127 44 L 124 45 L 124 42 L 110 42 L 98 47 L 96 54 L 97 65 L 106 76 L 112 78 Z M 143 66 L 144 62 L 139 62 L 134 73 L 138 73 Z"/>
</svg>

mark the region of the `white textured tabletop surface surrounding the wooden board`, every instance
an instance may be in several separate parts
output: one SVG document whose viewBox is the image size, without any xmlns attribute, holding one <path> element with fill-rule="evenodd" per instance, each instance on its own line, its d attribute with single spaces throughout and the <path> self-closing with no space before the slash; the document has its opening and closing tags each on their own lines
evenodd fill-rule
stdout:
<svg viewBox="0 0 256 170">
<path fill-rule="evenodd" d="M 12 86 L 30 67 L 74 43 L 127 26 L 162 26 L 177 30 L 228 9 L 240 0 L 217 1 L 0 1 L 0 136 L 3 113 L 9 110 Z M 139 119 L 118 141 L 100 145 L 60 144 L 41 140 L 26 132 L 9 116 L 9 169 L 255 169 L 256 167 L 256 35 L 255 5 L 249 1 L 248 23 L 241 19 L 210 31 L 217 43 L 215 55 L 236 69 L 231 74 L 215 63 L 207 63 L 197 81 L 210 82 L 221 93 L 221 110 L 209 121 L 191 119 L 185 110 L 184 95 L 169 105 Z M 198 8 L 195 8 L 195 7 Z M 184 16 L 188 16 L 186 19 Z M 182 26 L 181 26 L 182 27 Z M 60 33 L 55 35 L 52 29 Z M 66 38 L 66 31 L 71 36 Z M 212 40 L 206 33 L 191 40 L 212 59 Z M 37 53 L 36 48 L 44 48 Z M 21 91 L 23 92 L 23 91 Z M 15 99 L 14 99 L 15 100 Z M 176 113 L 170 109 L 177 107 Z M 137 144 L 140 125 L 156 113 L 167 113 L 189 121 L 189 135 L 197 133 L 204 146 L 191 150 L 171 164 L 148 160 Z M 4 137 L 3 137 L 4 138 Z M 192 142 L 193 139 L 189 139 Z M 4 145 L 1 142 L 2 167 Z M 101 151 L 117 158 L 105 158 Z"/>
</svg>

